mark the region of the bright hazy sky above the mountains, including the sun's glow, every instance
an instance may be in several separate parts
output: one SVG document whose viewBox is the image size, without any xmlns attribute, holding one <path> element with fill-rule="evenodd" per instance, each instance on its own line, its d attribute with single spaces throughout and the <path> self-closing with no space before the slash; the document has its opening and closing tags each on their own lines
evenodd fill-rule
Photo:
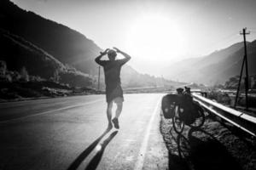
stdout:
<svg viewBox="0 0 256 170">
<path fill-rule="evenodd" d="M 12 0 L 69 26 L 101 48 L 131 54 L 138 71 L 256 39 L 256 0 Z M 147 65 L 145 64 L 147 60 Z M 154 66 L 155 65 L 155 66 Z"/>
</svg>

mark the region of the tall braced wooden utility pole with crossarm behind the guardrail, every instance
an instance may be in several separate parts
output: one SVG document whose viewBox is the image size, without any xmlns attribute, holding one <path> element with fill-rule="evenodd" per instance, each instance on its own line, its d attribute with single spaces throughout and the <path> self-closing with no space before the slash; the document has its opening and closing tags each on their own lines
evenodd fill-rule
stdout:
<svg viewBox="0 0 256 170">
<path fill-rule="evenodd" d="M 242 59 L 242 65 L 241 65 L 241 73 L 240 73 L 240 78 L 238 82 L 238 88 L 236 92 L 236 101 L 234 107 L 236 108 L 236 103 L 239 95 L 239 90 L 240 90 L 240 84 L 241 84 L 241 77 L 242 77 L 242 71 L 243 71 L 243 65 L 245 65 L 245 70 L 246 70 L 246 77 L 245 77 L 245 94 L 246 94 L 246 110 L 248 110 L 248 88 L 249 88 L 249 76 L 248 76 L 248 62 L 247 62 L 247 40 L 246 40 L 246 35 L 250 34 L 250 32 L 247 32 L 247 28 L 243 28 L 242 32 L 240 32 L 240 35 L 243 35 L 243 43 L 244 43 L 244 56 Z"/>
</svg>

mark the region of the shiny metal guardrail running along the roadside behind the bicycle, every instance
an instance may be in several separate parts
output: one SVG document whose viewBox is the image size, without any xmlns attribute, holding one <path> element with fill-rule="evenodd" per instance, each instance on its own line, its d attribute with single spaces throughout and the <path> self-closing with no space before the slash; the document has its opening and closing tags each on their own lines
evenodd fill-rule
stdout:
<svg viewBox="0 0 256 170">
<path fill-rule="evenodd" d="M 236 111 L 230 107 L 218 104 L 211 99 L 202 97 L 199 94 L 192 94 L 194 99 L 198 101 L 207 111 L 220 116 L 225 121 L 232 123 L 241 130 L 250 133 L 256 137 L 256 117 L 249 116 L 241 111 Z"/>
</svg>

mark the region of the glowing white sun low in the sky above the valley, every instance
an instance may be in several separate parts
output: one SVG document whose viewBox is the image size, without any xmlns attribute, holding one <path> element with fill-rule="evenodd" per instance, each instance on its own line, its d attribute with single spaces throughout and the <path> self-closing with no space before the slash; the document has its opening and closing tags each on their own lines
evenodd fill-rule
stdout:
<svg viewBox="0 0 256 170">
<path fill-rule="evenodd" d="M 173 59 L 183 54 L 183 37 L 177 25 L 163 16 L 140 17 L 127 35 L 132 54 L 141 59 Z"/>
</svg>

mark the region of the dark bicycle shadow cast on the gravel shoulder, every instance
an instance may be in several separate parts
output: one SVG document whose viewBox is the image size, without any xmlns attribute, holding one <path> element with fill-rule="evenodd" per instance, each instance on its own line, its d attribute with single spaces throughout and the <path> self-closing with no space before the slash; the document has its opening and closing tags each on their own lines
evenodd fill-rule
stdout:
<svg viewBox="0 0 256 170">
<path fill-rule="evenodd" d="M 187 161 L 195 170 L 241 170 L 239 163 L 224 145 L 201 128 L 190 128 L 188 138 L 179 134 L 177 150 L 180 158 Z"/>
</svg>

